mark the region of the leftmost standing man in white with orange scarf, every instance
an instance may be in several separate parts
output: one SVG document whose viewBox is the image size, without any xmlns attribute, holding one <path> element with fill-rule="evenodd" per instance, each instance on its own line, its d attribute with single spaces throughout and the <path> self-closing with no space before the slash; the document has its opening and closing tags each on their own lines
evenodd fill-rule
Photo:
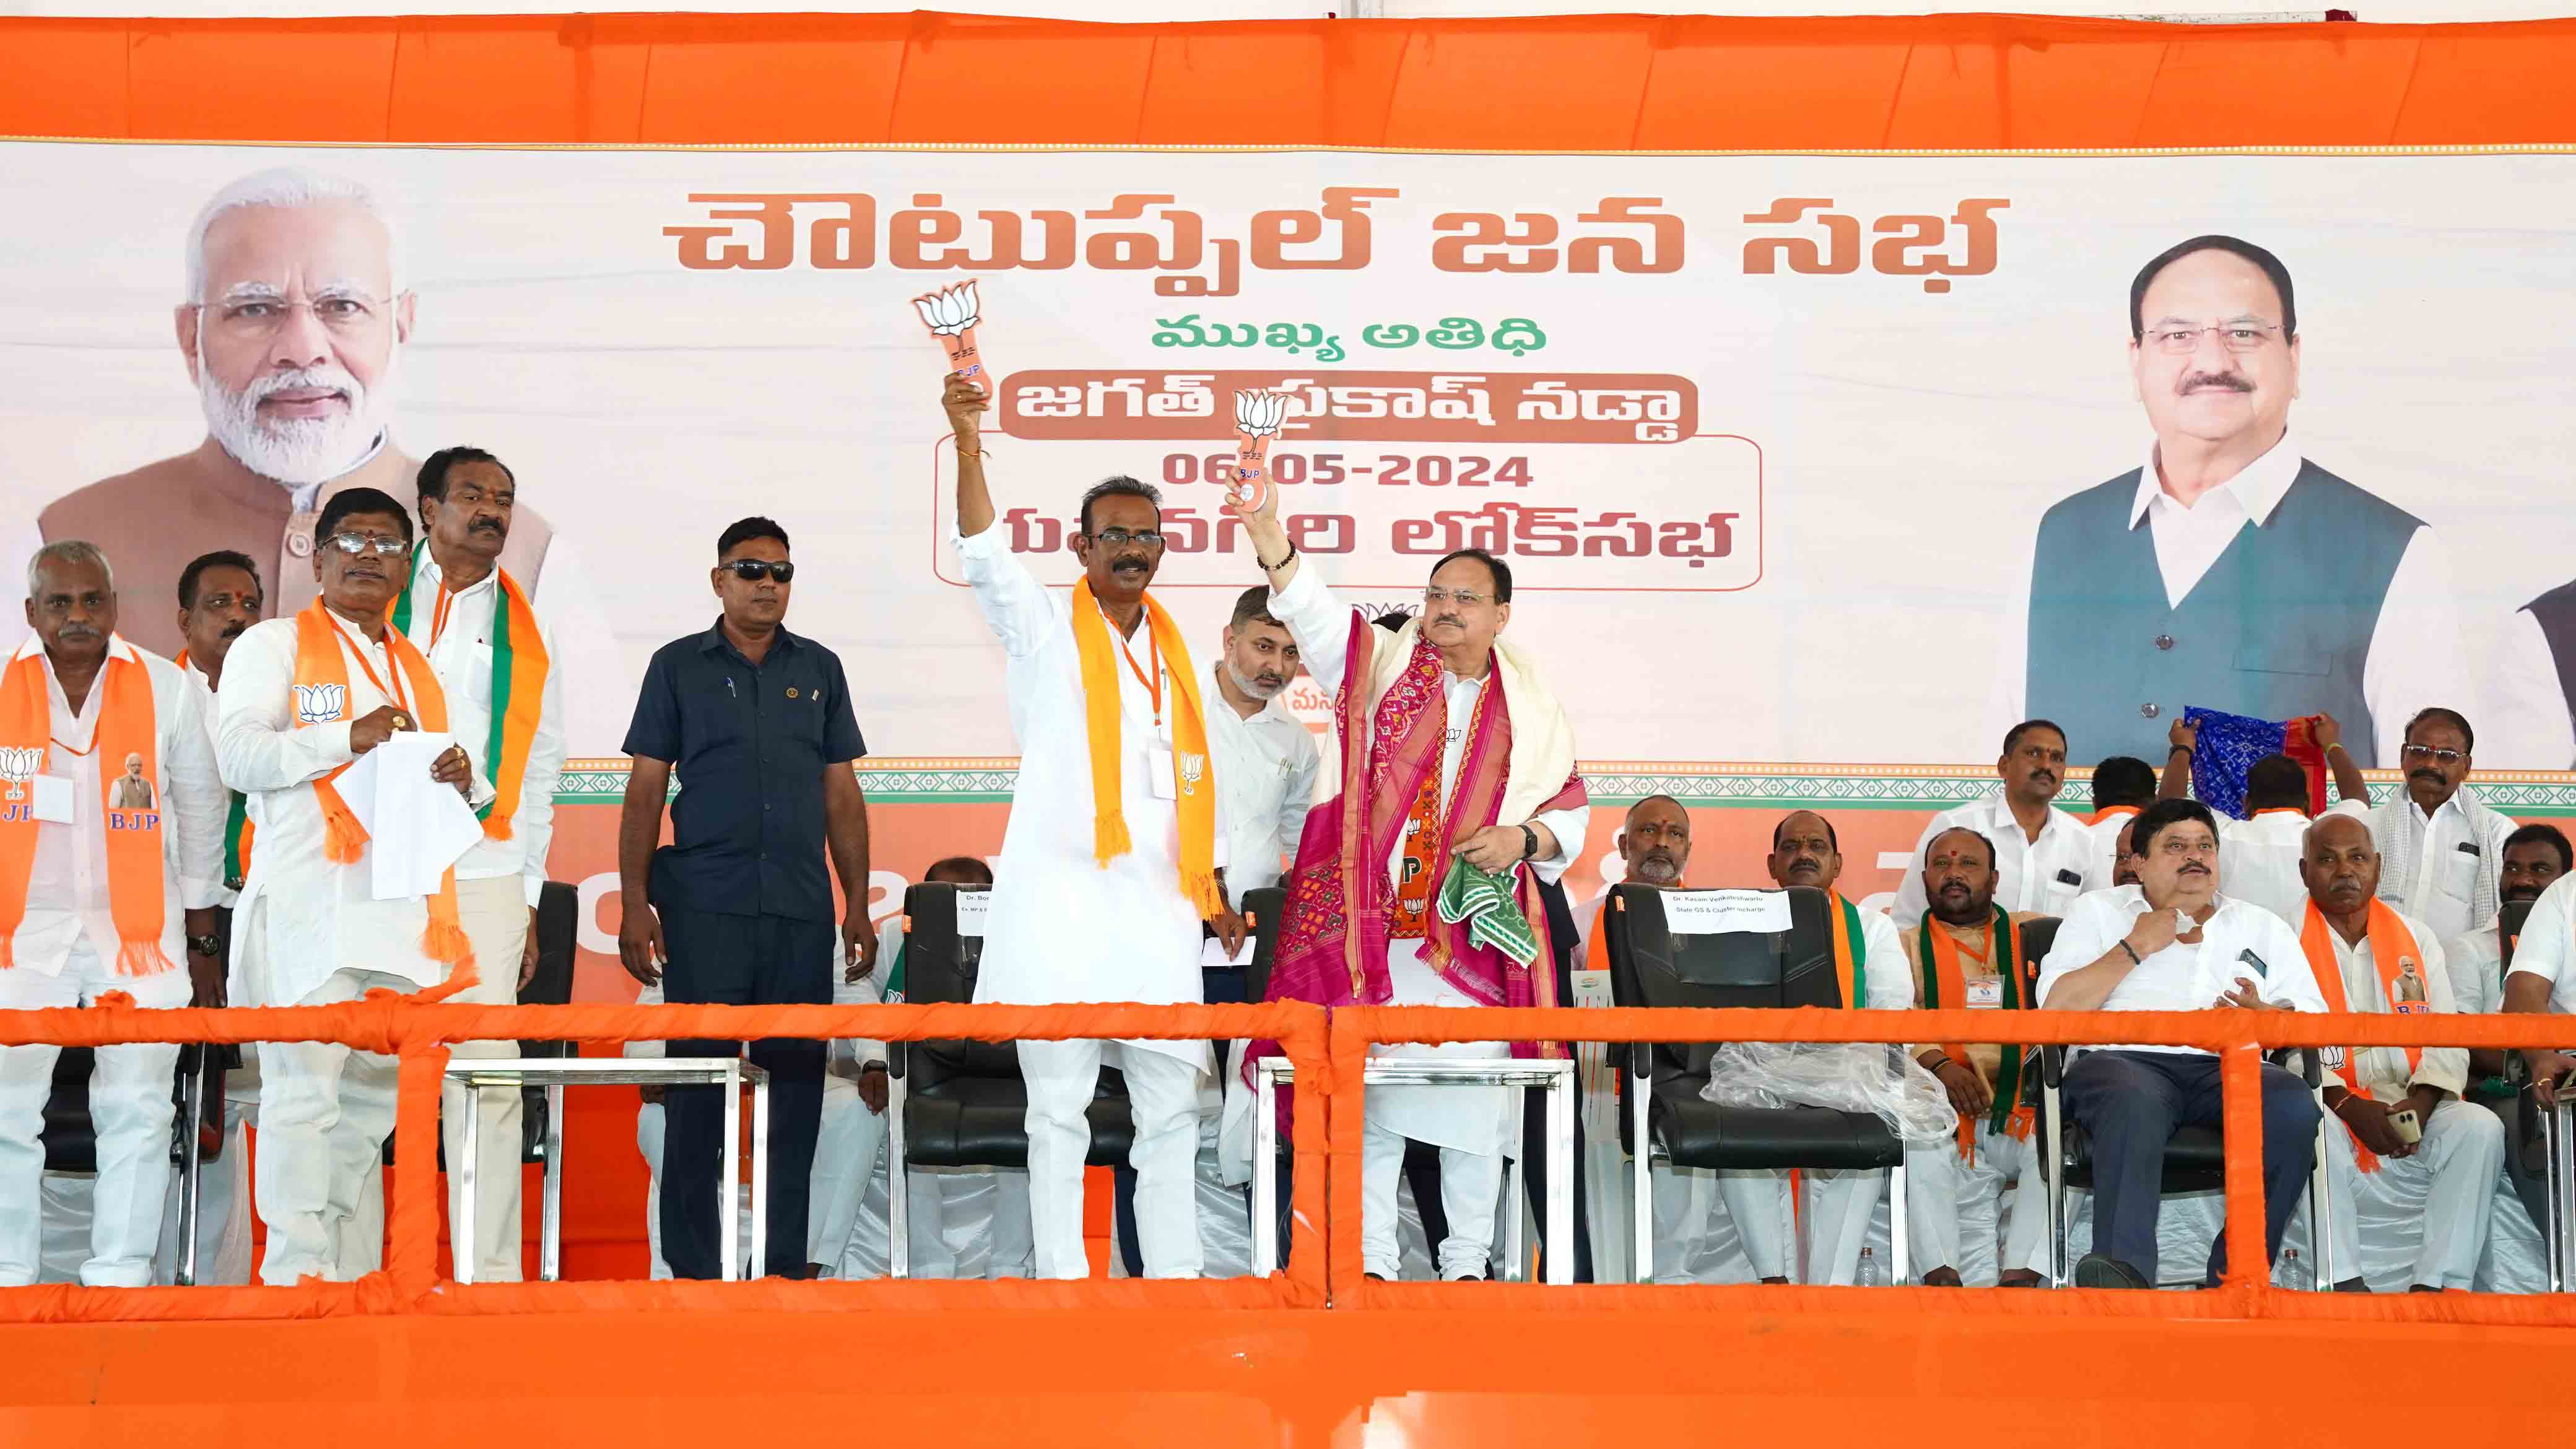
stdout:
<svg viewBox="0 0 2576 1449">
<path fill-rule="evenodd" d="M 188 1006 L 191 977 L 214 972 L 198 946 L 214 931 L 224 841 L 206 696 L 178 665 L 116 637 L 116 580 L 95 547 L 46 544 L 26 593 L 33 634 L 0 670 L 0 1011 L 95 1006 L 106 993 Z M 139 758 L 157 810 L 113 804 L 126 758 Z M 59 1047 L 0 1047 L 0 1284 L 10 1287 L 36 1281 L 39 1132 L 57 1057 Z M 152 1281 L 175 1067 L 175 1044 L 98 1049 L 85 1284 Z"/>
</svg>

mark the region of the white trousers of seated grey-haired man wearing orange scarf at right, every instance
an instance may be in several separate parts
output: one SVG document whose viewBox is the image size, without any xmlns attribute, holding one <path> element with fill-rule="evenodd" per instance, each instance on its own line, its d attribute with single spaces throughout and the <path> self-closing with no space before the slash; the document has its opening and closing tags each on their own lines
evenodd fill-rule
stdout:
<svg viewBox="0 0 2576 1449">
<path fill-rule="evenodd" d="M 2331 1124 L 2326 1152 L 2334 1171 L 2334 1274 L 2365 1279 L 2372 1292 L 2416 1284 L 2468 1289 L 2486 1256 L 2504 1173 L 2504 1122 L 2476 1104 L 2445 1101 L 2424 1124 L 2411 1158 L 2380 1158 L 2365 1173 L 2352 1132 Z M 2308 1207 L 2290 1220 L 2285 1243 L 2308 1253 Z"/>
</svg>

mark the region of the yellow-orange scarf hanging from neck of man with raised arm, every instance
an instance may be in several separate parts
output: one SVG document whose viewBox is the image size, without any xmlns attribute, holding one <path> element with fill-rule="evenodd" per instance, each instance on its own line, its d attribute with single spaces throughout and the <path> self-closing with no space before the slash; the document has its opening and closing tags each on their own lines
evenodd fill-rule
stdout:
<svg viewBox="0 0 2576 1449">
<path fill-rule="evenodd" d="M 1206 920 L 1226 908 L 1226 897 L 1216 887 L 1216 771 L 1208 766 L 1208 717 L 1198 709 L 1198 670 L 1190 668 L 1190 645 L 1151 596 L 1144 598 L 1144 624 L 1172 673 L 1172 810 L 1180 820 L 1180 895 Z M 1082 580 L 1074 585 L 1074 657 L 1082 665 L 1082 722 L 1092 745 L 1092 859 L 1100 866 L 1133 848 L 1121 804 L 1123 735 L 1113 650 L 1110 621 L 1100 614 L 1092 583 Z"/>
</svg>

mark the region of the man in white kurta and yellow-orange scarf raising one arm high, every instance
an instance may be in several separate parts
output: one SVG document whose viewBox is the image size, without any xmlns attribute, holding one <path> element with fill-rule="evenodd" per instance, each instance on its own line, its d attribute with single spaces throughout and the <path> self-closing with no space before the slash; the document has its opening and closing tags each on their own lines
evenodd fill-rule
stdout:
<svg viewBox="0 0 2576 1449">
<path fill-rule="evenodd" d="M 1059 598 L 992 526 L 976 413 L 951 374 L 956 547 L 1010 668 L 1020 781 L 994 869 L 976 1000 L 1198 1003 L 1200 923 L 1226 951 L 1226 825 L 1200 709 L 1203 676 L 1146 585 L 1162 567 L 1162 495 L 1115 477 L 1082 495 L 1082 583 Z M 1136 1238 L 1146 1276 L 1195 1279 L 1198 1088 L 1206 1042 L 1020 1042 L 1028 1083 L 1028 1217 L 1041 1279 L 1079 1279 L 1084 1109 L 1100 1065 L 1136 1111 Z"/>
</svg>

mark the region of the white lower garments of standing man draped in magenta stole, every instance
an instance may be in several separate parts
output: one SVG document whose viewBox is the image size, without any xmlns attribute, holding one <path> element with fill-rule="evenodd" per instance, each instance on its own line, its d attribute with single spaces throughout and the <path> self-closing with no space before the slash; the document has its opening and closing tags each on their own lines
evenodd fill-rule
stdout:
<svg viewBox="0 0 2576 1449">
<path fill-rule="evenodd" d="M 1425 941 L 1388 941 L 1391 1006 L 1484 1006 L 1422 959 Z M 1510 1057 L 1510 1042 L 1378 1042 L 1370 1057 L 1489 1062 Z M 1360 1256 L 1368 1271 L 1394 1279 L 1396 1178 L 1404 1142 L 1440 1147 L 1440 1207 L 1448 1238 L 1437 1248 L 1443 1279 L 1486 1276 L 1494 1253 L 1494 1209 L 1502 1196 L 1502 1150 L 1512 1119 L 1512 1088 L 1484 1085 L 1373 1085 L 1363 1088 L 1360 1137 Z"/>
</svg>

